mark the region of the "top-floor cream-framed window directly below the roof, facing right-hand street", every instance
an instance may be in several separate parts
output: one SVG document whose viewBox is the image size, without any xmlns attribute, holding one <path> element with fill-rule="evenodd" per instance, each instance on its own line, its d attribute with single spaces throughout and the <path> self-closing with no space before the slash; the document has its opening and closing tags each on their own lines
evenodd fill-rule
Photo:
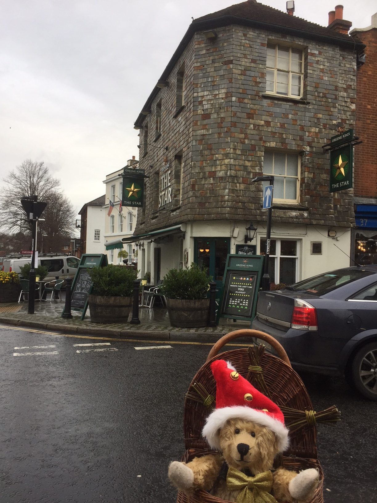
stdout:
<svg viewBox="0 0 377 503">
<path fill-rule="evenodd" d="M 266 93 L 301 98 L 303 59 L 301 49 L 267 44 Z"/>
</svg>

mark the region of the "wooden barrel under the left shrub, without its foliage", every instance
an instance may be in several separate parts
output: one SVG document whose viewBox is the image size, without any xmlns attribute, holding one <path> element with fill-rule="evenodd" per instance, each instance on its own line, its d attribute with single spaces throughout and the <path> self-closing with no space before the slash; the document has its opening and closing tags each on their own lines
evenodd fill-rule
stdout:
<svg viewBox="0 0 377 503">
<path fill-rule="evenodd" d="M 95 323 L 127 323 L 132 297 L 88 295 L 90 321 Z"/>
</svg>

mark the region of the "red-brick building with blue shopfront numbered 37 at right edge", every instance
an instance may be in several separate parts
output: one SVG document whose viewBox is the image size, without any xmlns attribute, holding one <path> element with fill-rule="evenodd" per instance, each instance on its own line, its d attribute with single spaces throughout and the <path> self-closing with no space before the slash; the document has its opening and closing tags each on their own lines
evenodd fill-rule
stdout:
<svg viewBox="0 0 377 503">
<path fill-rule="evenodd" d="M 352 251 L 356 262 L 377 264 L 377 13 L 370 26 L 354 29 L 350 35 L 365 44 L 356 77 L 356 133 L 363 143 L 354 153 Z"/>
</svg>

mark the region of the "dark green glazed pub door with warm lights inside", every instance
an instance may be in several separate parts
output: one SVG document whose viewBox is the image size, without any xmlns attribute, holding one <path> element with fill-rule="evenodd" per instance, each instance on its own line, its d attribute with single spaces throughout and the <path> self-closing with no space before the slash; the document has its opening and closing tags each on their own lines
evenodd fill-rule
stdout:
<svg viewBox="0 0 377 503">
<path fill-rule="evenodd" d="M 227 255 L 230 253 L 230 237 L 196 237 L 194 241 L 195 263 L 206 267 L 216 281 L 217 288 L 223 284 Z"/>
</svg>

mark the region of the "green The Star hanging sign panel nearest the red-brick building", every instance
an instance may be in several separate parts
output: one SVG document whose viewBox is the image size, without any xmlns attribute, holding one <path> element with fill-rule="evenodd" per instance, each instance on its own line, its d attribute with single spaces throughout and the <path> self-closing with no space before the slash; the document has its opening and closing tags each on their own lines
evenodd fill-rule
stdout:
<svg viewBox="0 0 377 503">
<path fill-rule="evenodd" d="M 330 151 L 329 192 L 352 189 L 352 162 L 351 143 Z"/>
</svg>

